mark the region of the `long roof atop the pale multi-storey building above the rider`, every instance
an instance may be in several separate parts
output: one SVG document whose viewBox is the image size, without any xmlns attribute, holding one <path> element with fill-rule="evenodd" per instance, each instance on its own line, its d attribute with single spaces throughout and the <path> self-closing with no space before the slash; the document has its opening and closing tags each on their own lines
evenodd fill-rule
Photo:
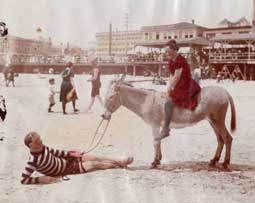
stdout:
<svg viewBox="0 0 255 203">
<path fill-rule="evenodd" d="M 155 25 L 155 26 L 143 26 L 141 28 L 141 31 L 149 32 L 149 31 L 168 31 L 168 30 L 179 30 L 179 29 L 190 29 L 190 28 L 203 28 L 205 27 L 193 24 L 193 23 L 176 23 L 176 24 L 170 24 L 170 25 Z"/>
</svg>

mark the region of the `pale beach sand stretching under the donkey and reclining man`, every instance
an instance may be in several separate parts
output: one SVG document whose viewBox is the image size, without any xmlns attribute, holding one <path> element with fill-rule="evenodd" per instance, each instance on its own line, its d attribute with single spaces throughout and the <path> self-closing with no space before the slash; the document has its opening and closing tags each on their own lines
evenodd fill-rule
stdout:
<svg viewBox="0 0 255 203">
<path fill-rule="evenodd" d="M 254 203 L 255 202 L 255 83 L 202 81 L 202 86 L 219 85 L 234 98 L 237 131 L 233 135 L 232 172 L 209 169 L 207 163 L 216 149 L 216 137 L 206 121 L 194 127 L 172 130 L 162 142 L 163 160 L 159 169 L 149 169 L 153 143 L 149 126 L 125 108 L 113 114 L 109 129 L 96 155 L 115 158 L 134 156 L 130 169 L 111 169 L 70 176 L 71 180 L 50 185 L 20 184 L 29 151 L 23 138 L 29 131 L 41 134 L 46 145 L 60 149 L 86 150 L 100 122 L 102 107 L 96 102 L 92 113 L 85 113 L 90 100 L 88 75 L 78 75 L 79 114 L 64 116 L 61 104 L 56 113 L 47 112 L 48 78 L 20 74 L 16 87 L 5 87 L 0 77 L 0 94 L 7 101 L 7 118 L 0 123 L 0 202 L 4 203 Z M 56 89 L 60 77 L 56 79 Z M 102 95 L 113 76 L 103 76 Z M 141 79 L 141 78 L 136 78 Z M 164 90 L 150 82 L 140 87 Z M 58 101 L 58 96 L 56 96 Z M 67 111 L 72 112 L 71 104 Z M 227 117 L 229 123 L 230 110 Z M 222 160 L 221 160 L 222 161 Z M 35 174 L 39 175 L 39 174 Z"/>
</svg>

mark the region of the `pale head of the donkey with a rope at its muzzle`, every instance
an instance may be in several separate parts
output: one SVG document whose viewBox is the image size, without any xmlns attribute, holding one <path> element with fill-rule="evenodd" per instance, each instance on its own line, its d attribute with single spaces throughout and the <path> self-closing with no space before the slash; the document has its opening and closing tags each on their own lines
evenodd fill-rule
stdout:
<svg viewBox="0 0 255 203">
<path fill-rule="evenodd" d="M 106 120 L 110 120 L 111 114 L 121 106 L 120 86 L 123 83 L 125 76 L 126 75 L 123 74 L 119 80 L 112 80 L 110 82 L 104 102 L 105 113 L 102 115 Z"/>
</svg>

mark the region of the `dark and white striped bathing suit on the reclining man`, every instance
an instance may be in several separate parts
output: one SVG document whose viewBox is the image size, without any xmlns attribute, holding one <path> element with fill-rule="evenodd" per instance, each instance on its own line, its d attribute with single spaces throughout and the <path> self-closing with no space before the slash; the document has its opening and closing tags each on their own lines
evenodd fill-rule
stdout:
<svg viewBox="0 0 255 203">
<path fill-rule="evenodd" d="M 22 173 L 22 184 L 39 183 L 39 177 L 31 177 L 34 171 L 51 177 L 85 173 L 82 161 L 71 157 L 67 151 L 44 146 L 41 152 L 31 152 L 31 155 Z"/>
</svg>

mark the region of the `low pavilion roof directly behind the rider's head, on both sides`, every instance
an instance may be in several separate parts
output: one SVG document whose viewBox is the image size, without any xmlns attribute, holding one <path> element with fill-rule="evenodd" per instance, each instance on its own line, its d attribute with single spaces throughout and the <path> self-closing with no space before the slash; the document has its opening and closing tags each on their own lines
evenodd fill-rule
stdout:
<svg viewBox="0 0 255 203">
<path fill-rule="evenodd" d="M 170 40 L 156 40 L 156 41 L 141 41 L 136 46 L 151 47 L 151 48 L 164 48 Z M 193 46 L 208 46 L 209 41 L 203 37 L 197 37 L 192 39 L 177 39 L 179 47 L 193 47 Z"/>
</svg>

